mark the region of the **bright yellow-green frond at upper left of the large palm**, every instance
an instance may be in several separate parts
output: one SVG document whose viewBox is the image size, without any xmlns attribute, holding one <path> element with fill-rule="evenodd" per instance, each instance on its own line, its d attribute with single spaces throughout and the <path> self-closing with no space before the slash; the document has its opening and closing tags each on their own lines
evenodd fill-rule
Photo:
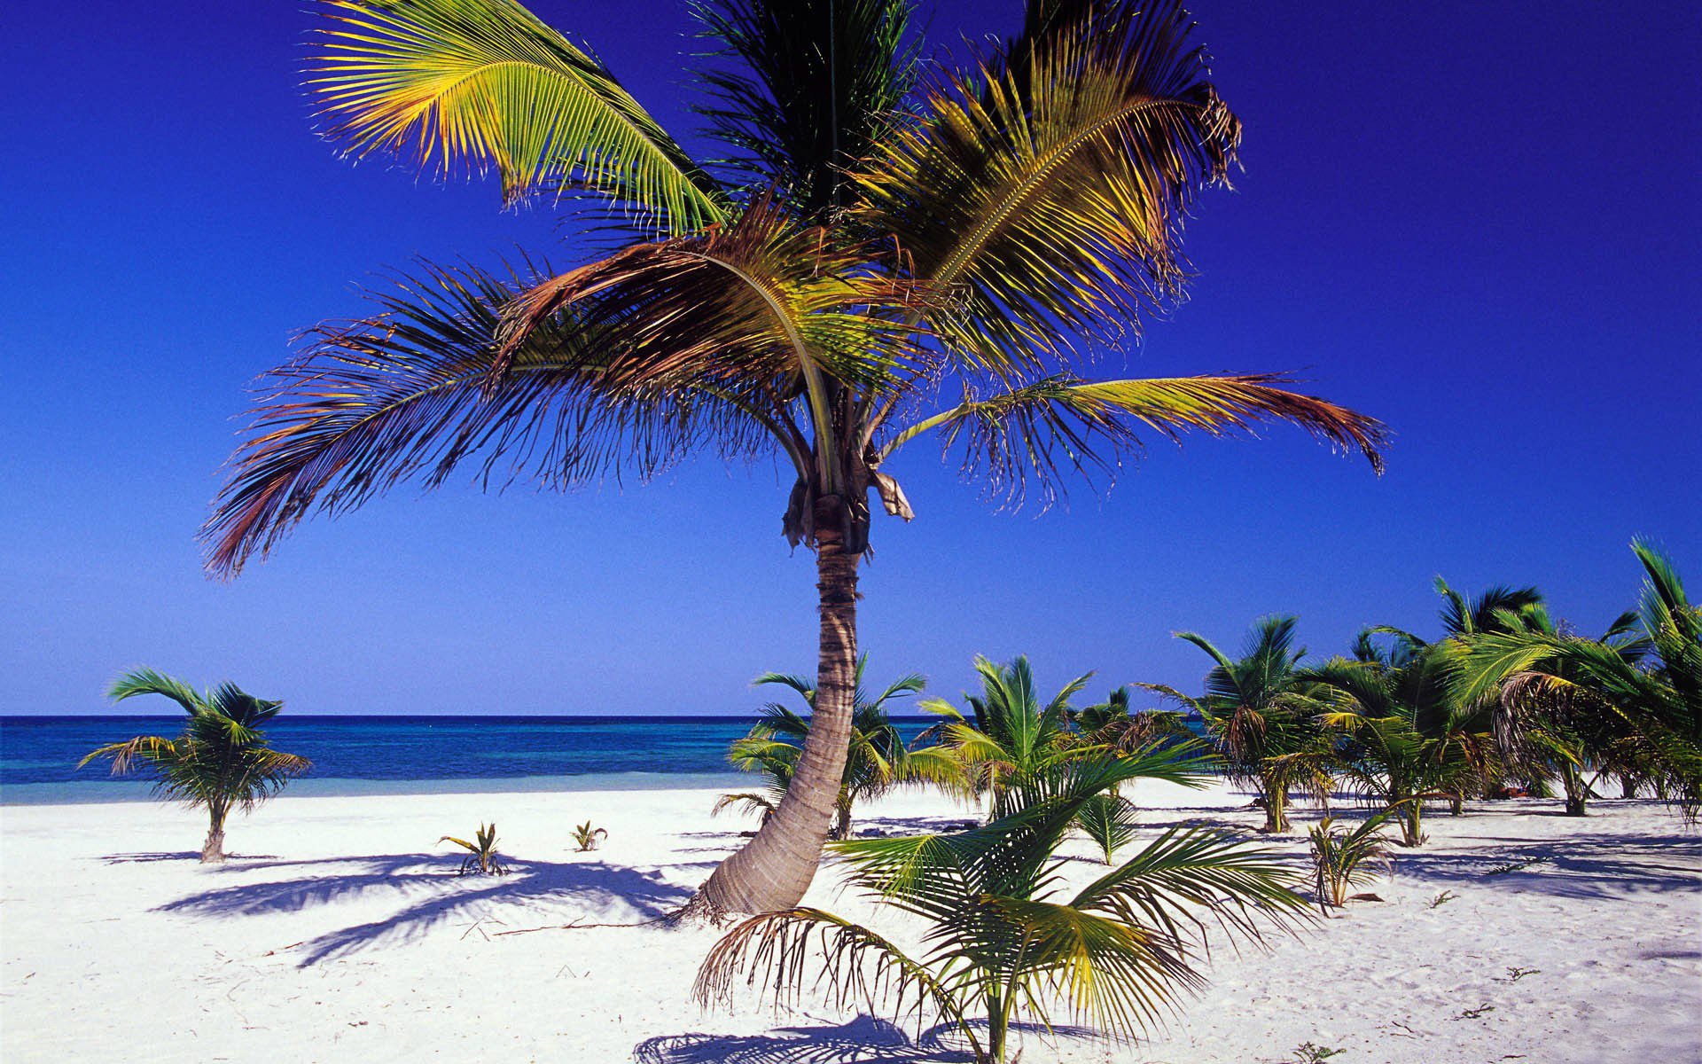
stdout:
<svg viewBox="0 0 1702 1064">
<path fill-rule="evenodd" d="M 512 0 L 320 0 L 308 87 L 327 136 L 449 175 L 495 167 L 613 192 L 686 233 L 725 218 L 710 177 L 613 73 Z"/>
</svg>

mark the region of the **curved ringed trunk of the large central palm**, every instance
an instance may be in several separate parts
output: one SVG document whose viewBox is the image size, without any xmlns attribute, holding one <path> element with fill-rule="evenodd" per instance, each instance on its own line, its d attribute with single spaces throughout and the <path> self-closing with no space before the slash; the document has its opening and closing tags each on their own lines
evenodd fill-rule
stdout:
<svg viewBox="0 0 1702 1064">
<path fill-rule="evenodd" d="M 827 829 L 839 812 L 839 785 L 851 746 L 856 696 L 858 555 L 844 550 L 837 514 L 824 514 L 819 507 L 815 528 L 820 657 L 815 666 L 810 734 L 774 815 L 703 884 L 693 904 L 710 916 L 771 912 L 797 906 L 815 878 Z"/>
</svg>

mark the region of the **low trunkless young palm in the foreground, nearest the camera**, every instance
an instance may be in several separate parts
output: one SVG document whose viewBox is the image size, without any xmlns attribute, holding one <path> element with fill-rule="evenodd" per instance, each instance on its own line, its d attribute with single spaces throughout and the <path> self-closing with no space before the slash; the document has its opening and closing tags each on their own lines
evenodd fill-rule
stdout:
<svg viewBox="0 0 1702 1064">
<path fill-rule="evenodd" d="M 885 996 L 957 1028 L 985 1064 L 1006 1061 L 1025 1016 L 1050 1027 L 1057 1010 L 1117 1037 L 1151 1027 L 1205 982 L 1195 960 L 1214 918 L 1258 938 L 1304 901 L 1271 853 L 1207 827 L 1173 827 L 1081 890 L 1064 889 L 1059 843 L 1096 795 L 1137 778 L 1203 780 L 1198 763 L 1164 752 L 1101 752 L 1019 780 L 984 827 L 834 843 L 853 887 L 924 921 L 921 950 L 822 909 L 768 912 L 715 945 L 698 970 L 700 1001 L 740 984 L 780 1001 L 805 986 L 839 1003 Z"/>
</svg>

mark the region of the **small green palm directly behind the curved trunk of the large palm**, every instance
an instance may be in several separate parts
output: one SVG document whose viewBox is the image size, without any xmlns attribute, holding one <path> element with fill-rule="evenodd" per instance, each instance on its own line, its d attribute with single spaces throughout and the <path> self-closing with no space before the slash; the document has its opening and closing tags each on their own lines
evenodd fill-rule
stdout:
<svg viewBox="0 0 1702 1064">
<path fill-rule="evenodd" d="M 928 679 L 911 672 L 887 684 L 878 696 L 870 698 L 863 689 L 866 666 L 868 655 L 860 655 L 851 713 L 851 746 L 846 752 L 839 797 L 834 802 L 834 826 L 829 832 L 834 839 L 851 838 L 851 809 L 858 802 L 877 798 L 899 783 L 936 780 L 951 771 L 938 751 L 916 751 L 912 754 L 905 749 L 904 735 L 887 715 L 890 700 L 919 693 Z M 778 701 L 768 703 L 762 706 L 762 718 L 751 729 L 751 734 L 734 741 L 728 751 L 734 766 L 768 776 L 768 788 L 766 792 L 722 795 L 715 802 L 715 812 L 730 805 L 744 805 L 761 812 L 766 822 L 785 800 L 786 788 L 797 775 L 798 759 L 808 742 L 810 724 L 815 718 L 815 684 L 786 672 L 764 672 L 752 683 L 790 688 L 803 698 L 808 710 L 800 715 Z"/>
</svg>

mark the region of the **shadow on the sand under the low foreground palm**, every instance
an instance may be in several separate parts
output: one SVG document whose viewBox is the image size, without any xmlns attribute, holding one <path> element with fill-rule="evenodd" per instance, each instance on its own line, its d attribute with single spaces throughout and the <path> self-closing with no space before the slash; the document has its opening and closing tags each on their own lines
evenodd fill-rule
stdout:
<svg viewBox="0 0 1702 1064">
<path fill-rule="evenodd" d="M 1013 1032 L 1040 1035 L 1018 1023 Z M 957 1044 L 945 1023 L 911 1040 L 895 1023 L 858 1016 L 849 1023 L 776 1027 L 766 1035 L 662 1035 L 633 1047 L 637 1064 L 972 1064 L 975 1054 Z M 1081 1027 L 1054 1027 L 1052 1037 L 1098 1038 Z"/>
</svg>

